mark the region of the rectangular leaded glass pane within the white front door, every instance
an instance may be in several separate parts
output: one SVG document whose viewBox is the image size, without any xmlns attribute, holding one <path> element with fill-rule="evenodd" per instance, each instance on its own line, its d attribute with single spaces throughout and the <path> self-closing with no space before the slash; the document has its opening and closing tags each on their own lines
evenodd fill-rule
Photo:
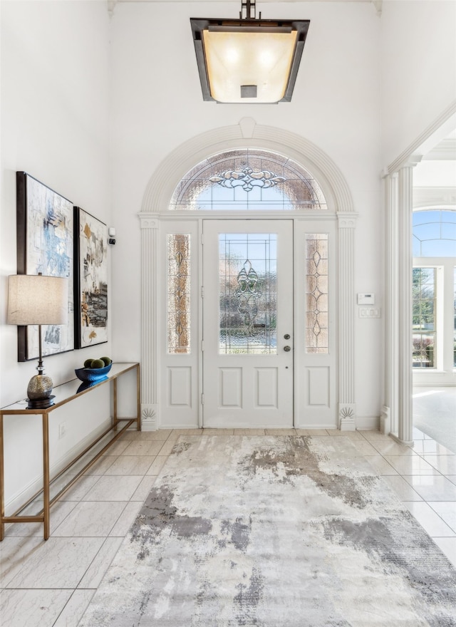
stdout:
<svg viewBox="0 0 456 627">
<path fill-rule="evenodd" d="M 219 353 L 277 353 L 277 236 L 219 235 Z"/>
</svg>

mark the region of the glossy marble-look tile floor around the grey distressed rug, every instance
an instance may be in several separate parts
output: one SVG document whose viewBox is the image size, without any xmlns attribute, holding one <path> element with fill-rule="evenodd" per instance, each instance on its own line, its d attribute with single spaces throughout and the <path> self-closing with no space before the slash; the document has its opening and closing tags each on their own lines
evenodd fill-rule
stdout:
<svg viewBox="0 0 456 627">
<path fill-rule="evenodd" d="M 129 431 L 41 524 L 12 524 L 0 543 L 1 627 L 77 627 L 135 515 L 181 434 L 313 435 L 322 447 L 349 437 L 456 566 L 456 455 L 423 431 L 414 447 L 378 431 Z"/>
</svg>

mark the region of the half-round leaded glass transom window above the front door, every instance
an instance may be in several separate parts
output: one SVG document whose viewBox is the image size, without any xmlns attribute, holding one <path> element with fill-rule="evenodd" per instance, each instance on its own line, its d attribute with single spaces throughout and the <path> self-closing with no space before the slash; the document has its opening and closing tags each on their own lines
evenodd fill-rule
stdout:
<svg viewBox="0 0 456 627">
<path fill-rule="evenodd" d="M 170 210 L 326 210 L 314 177 L 276 152 L 241 148 L 207 157 L 182 178 Z"/>
</svg>

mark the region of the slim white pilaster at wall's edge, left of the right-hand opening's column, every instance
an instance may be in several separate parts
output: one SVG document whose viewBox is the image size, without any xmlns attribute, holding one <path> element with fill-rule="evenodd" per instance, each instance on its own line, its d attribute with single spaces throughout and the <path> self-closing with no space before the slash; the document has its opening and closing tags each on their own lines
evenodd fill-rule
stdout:
<svg viewBox="0 0 456 627">
<path fill-rule="evenodd" d="M 385 383 L 380 431 L 398 436 L 398 174 L 385 177 Z"/>
</svg>

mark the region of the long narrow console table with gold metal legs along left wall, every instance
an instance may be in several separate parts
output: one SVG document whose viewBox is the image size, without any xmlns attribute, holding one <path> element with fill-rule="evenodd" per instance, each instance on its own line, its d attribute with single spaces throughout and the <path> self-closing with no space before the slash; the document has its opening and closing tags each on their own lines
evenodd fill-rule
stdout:
<svg viewBox="0 0 456 627">
<path fill-rule="evenodd" d="M 117 380 L 120 376 L 128 373 L 129 371 L 136 371 L 136 397 L 137 397 L 137 406 L 136 406 L 136 417 L 135 418 L 118 418 L 117 415 Z M 80 398 L 84 394 L 89 394 L 95 388 L 98 388 L 100 385 L 105 385 L 105 383 L 110 383 L 112 385 L 113 390 L 113 416 L 111 418 L 110 427 L 105 430 L 99 437 L 97 437 L 93 442 L 90 442 L 90 445 L 86 447 L 77 457 L 74 457 L 71 462 L 69 462 L 66 467 L 63 468 L 58 474 L 51 479 L 49 474 L 49 416 L 58 408 L 61 408 L 62 405 L 66 403 L 70 403 L 77 398 Z M 93 465 L 93 463 L 98 460 L 98 458 L 103 455 L 103 453 L 108 450 L 110 445 L 113 444 L 122 433 L 128 429 L 131 425 L 136 423 L 136 428 L 138 431 L 141 430 L 141 413 L 140 413 L 140 365 L 139 363 L 113 363 L 112 368 L 108 375 L 96 383 L 90 383 L 89 385 L 84 385 L 79 379 L 72 379 L 67 383 L 62 383 L 62 385 L 56 385 L 52 390 L 54 398 L 54 404 L 51 407 L 46 409 L 27 409 L 26 400 L 18 401 L 17 403 L 13 403 L 12 405 L 7 405 L 4 408 L 0 409 L 0 541 L 4 539 L 5 532 L 5 523 L 6 522 L 42 522 L 43 523 L 43 537 L 45 540 L 49 537 L 49 510 L 51 505 L 56 502 L 56 500 L 61 497 L 61 495 L 70 488 L 76 480 L 83 475 L 86 470 Z M 15 512 L 12 516 L 5 516 L 4 509 L 4 416 L 6 415 L 41 415 L 42 425 L 43 425 L 43 488 L 39 490 L 36 494 L 28 499 L 24 505 L 22 505 L 17 512 Z M 122 428 L 119 428 L 119 423 L 125 423 Z M 110 431 L 116 432 L 114 437 L 106 444 L 90 461 L 84 465 L 82 470 L 80 470 L 74 477 L 71 477 L 71 480 L 68 481 L 67 484 L 51 498 L 50 496 L 50 487 L 51 484 L 61 477 L 64 472 L 66 472 L 73 464 L 75 464 L 78 460 L 86 455 L 100 440 L 108 435 Z M 26 516 L 19 515 L 28 504 L 31 504 L 36 497 L 43 494 L 43 509 L 41 512 L 36 514 L 36 516 Z"/>
</svg>

